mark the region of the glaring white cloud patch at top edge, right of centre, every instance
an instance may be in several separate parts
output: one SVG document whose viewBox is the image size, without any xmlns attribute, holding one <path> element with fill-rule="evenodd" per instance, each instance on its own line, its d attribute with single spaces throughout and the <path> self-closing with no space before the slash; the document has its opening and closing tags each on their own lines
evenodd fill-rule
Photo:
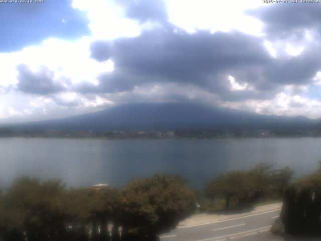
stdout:
<svg viewBox="0 0 321 241">
<path fill-rule="evenodd" d="M 262 23 L 244 14 L 245 10 L 266 6 L 260 1 L 167 0 L 169 19 L 190 33 L 197 29 L 227 32 L 239 30 L 263 35 Z"/>
</svg>

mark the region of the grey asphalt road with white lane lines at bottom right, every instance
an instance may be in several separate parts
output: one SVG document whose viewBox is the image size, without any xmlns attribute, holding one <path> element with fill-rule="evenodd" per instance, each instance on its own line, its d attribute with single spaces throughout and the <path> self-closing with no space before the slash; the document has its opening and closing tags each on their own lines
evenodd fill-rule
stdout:
<svg viewBox="0 0 321 241">
<path fill-rule="evenodd" d="M 255 236 L 260 236 L 270 229 L 275 218 L 279 216 L 280 210 L 280 208 L 276 208 L 215 222 L 180 226 L 169 233 L 159 235 L 159 237 L 161 241 L 247 240 L 250 237 L 252 240 Z"/>
</svg>

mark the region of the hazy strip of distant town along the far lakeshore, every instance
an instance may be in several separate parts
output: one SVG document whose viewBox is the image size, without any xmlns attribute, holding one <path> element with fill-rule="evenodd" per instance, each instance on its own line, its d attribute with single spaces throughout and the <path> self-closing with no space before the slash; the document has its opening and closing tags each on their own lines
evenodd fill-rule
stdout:
<svg viewBox="0 0 321 241">
<path fill-rule="evenodd" d="M 114 130 L 114 131 L 66 131 L 33 129 L 0 129 L 0 137 L 24 138 L 104 138 L 104 139 L 169 139 L 169 138 L 275 138 L 321 137 L 321 130 Z"/>
</svg>

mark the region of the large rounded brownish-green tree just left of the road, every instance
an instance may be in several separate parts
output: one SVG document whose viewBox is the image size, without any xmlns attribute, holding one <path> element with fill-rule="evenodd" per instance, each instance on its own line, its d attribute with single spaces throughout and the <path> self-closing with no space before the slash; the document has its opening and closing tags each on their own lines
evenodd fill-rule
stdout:
<svg viewBox="0 0 321 241">
<path fill-rule="evenodd" d="M 196 207 L 194 193 L 182 178 L 155 175 L 130 182 L 122 191 L 120 221 L 134 230 L 140 240 L 175 228 Z"/>
</svg>

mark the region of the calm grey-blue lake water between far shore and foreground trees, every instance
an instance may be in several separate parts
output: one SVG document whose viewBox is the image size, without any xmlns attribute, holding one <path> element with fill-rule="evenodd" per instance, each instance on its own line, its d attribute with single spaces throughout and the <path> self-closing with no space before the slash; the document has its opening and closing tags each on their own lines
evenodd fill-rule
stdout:
<svg viewBox="0 0 321 241">
<path fill-rule="evenodd" d="M 180 174 L 193 188 L 219 173 L 267 162 L 296 175 L 314 171 L 321 139 L 91 140 L 0 138 L 0 186 L 21 175 L 60 178 L 70 186 L 124 186 L 154 173 Z"/>
</svg>

